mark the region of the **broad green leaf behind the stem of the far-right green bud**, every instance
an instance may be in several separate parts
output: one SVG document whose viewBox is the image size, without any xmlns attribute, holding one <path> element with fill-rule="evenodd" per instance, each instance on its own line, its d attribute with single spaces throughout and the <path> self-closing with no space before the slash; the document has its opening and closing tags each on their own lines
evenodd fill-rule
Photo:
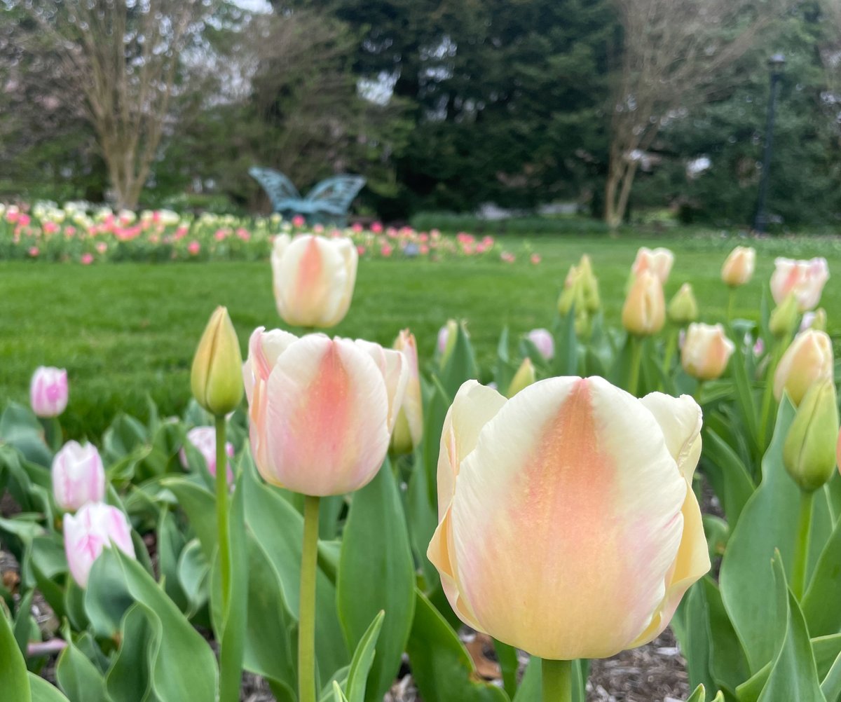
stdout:
<svg viewBox="0 0 841 702">
<path fill-rule="evenodd" d="M 770 613 L 775 612 L 776 586 L 771 558 L 779 550 L 781 566 L 790 569 L 795 552 L 800 490 L 782 465 L 782 444 L 793 417 L 794 408 L 785 399 L 762 463 L 762 482 L 745 504 L 722 560 L 722 600 L 747 654 L 750 673 L 775 655 L 777 622 Z M 810 563 L 817 561 L 829 530 L 827 506 L 816 500 Z"/>
</svg>

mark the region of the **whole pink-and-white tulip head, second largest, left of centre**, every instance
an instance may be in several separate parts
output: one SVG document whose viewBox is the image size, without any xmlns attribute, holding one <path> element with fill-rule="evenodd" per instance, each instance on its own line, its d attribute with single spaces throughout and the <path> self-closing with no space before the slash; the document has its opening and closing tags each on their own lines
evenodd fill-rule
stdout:
<svg viewBox="0 0 841 702">
<path fill-rule="evenodd" d="M 262 477 L 320 497 L 368 484 L 389 448 L 407 365 L 368 341 L 255 330 L 243 375 Z"/>
</svg>

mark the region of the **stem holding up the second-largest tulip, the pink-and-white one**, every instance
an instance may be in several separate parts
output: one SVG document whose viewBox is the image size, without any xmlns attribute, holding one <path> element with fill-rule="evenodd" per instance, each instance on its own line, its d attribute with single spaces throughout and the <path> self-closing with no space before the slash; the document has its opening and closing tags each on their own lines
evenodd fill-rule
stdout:
<svg viewBox="0 0 841 702">
<path fill-rule="evenodd" d="M 298 699 L 315 702 L 315 566 L 320 498 L 304 495 L 304 553 L 298 617 Z"/>
</svg>

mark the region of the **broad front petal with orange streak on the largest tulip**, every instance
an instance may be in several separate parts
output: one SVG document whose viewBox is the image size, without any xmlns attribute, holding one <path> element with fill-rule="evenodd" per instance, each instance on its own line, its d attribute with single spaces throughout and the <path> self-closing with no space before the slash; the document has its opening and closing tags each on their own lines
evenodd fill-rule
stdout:
<svg viewBox="0 0 841 702">
<path fill-rule="evenodd" d="M 479 628 L 533 655 L 611 656 L 663 602 L 685 494 L 637 399 L 598 377 L 535 383 L 462 461 L 451 505 L 459 593 Z"/>
</svg>

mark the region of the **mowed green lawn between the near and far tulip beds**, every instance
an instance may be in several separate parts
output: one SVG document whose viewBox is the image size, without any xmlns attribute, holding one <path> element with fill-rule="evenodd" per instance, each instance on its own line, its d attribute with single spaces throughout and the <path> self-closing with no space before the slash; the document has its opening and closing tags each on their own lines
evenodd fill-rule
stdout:
<svg viewBox="0 0 841 702">
<path fill-rule="evenodd" d="M 535 238 L 542 256 L 533 266 L 523 240 L 504 240 L 518 254 L 514 264 L 459 259 L 360 261 L 357 288 L 346 319 L 334 333 L 390 344 L 410 327 L 421 364 L 430 362 L 436 333 L 447 318 L 468 321 L 480 366 L 489 373 L 501 330 L 511 338 L 550 327 L 570 264 L 587 252 L 600 279 L 608 324 L 619 325 L 628 270 L 640 245 L 666 245 L 676 256 L 667 299 L 691 282 L 701 319 L 720 321 L 727 288 L 722 261 L 736 240 L 709 235 Z M 841 244 L 835 239 L 761 240 L 754 281 L 739 290 L 736 314 L 756 319 L 773 260 L 778 255 L 827 256 L 841 278 Z M 230 310 L 243 355 L 258 325 L 282 325 L 263 263 L 74 264 L 0 262 L 0 407 L 28 402 L 34 367 L 66 367 L 71 399 L 62 424 L 68 435 L 97 437 L 119 411 L 146 415 L 146 397 L 162 414 L 177 414 L 190 397 L 195 345 L 217 304 Z M 841 331 L 841 282 L 831 279 L 822 304 L 830 332 Z"/>
</svg>

